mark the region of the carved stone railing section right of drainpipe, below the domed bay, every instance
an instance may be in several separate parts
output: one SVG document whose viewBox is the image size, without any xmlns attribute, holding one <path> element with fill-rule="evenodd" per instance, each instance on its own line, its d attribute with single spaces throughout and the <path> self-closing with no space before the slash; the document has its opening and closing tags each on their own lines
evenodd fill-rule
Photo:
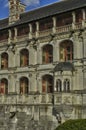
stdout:
<svg viewBox="0 0 86 130">
<path fill-rule="evenodd" d="M 55 94 L 55 104 L 86 105 L 86 94 L 62 93 Z"/>
</svg>

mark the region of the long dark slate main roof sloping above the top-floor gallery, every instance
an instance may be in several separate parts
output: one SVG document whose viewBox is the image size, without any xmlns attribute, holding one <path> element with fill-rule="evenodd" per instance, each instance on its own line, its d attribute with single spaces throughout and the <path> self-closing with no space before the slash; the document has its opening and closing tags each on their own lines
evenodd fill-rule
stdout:
<svg viewBox="0 0 86 130">
<path fill-rule="evenodd" d="M 12 25 L 8 25 L 8 19 L 0 20 L 0 29 L 5 27 L 16 26 L 23 24 L 25 22 L 32 22 L 34 20 L 39 20 L 48 16 L 60 14 L 63 12 L 71 11 L 77 8 L 82 8 L 86 6 L 86 0 L 65 0 L 61 2 L 56 2 L 54 4 L 41 7 L 29 12 L 25 12 L 20 15 L 20 20 Z"/>
</svg>

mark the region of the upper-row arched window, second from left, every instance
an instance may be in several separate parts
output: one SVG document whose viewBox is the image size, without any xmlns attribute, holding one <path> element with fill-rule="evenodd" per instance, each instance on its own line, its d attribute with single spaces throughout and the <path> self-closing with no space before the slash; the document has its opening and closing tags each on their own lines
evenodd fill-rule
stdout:
<svg viewBox="0 0 86 130">
<path fill-rule="evenodd" d="M 27 49 L 23 49 L 20 51 L 20 66 L 28 66 L 29 52 Z"/>
</svg>

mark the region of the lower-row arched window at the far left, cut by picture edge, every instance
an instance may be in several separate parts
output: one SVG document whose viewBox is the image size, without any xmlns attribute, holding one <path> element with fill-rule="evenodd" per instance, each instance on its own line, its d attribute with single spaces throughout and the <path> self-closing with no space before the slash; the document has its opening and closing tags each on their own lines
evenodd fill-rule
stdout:
<svg viewBox="0 0 86 130">
<path fill-rule="evenodd" d="M 1 79 L 0 93 L 1 94 L 8 94 L 8 81 L 5 78 Z"/>
</svg>

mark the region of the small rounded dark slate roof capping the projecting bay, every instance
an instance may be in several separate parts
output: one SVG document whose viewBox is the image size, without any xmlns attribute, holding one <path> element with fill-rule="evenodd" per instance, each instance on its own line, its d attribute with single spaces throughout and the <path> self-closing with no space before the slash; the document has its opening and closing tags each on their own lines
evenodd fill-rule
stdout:
<svg viewBox="0 0 86 130">
<path fill-rule="evenodd" d="M 60 62 L 58 63 L 55 68 L 54 71 L 73 71 L 74 69 L 74 65 L 70 62 Z"/>
</svg>

